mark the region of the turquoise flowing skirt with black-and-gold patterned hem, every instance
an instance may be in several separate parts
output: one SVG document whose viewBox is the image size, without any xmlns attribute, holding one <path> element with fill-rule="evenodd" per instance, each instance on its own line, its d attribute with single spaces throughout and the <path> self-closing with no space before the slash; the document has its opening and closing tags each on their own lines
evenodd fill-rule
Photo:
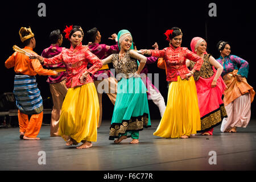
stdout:
<svg viewBox="0 0 256 182">
<path fill-rule="evenodd" d="M 139 77 L 122 78 L 118 82 L 110 140 L 129 131 L 142 131 L 144 127 L 151 127 L 146 92 L 146 86 Z"/>
</svg>

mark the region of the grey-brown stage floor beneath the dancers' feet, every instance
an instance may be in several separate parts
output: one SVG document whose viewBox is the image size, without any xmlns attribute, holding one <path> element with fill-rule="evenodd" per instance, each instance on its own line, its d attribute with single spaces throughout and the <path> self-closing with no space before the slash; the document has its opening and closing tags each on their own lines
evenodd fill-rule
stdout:
<svg viewBox="0 0 256 182">
<path fill-rule="evenodd" d="M 130 144 L 131 138 L 114 144 L 108 140 L 110 121 L 102 121 L 97 142 L 82 150 L 65 146 L 61 137 L 49 137 L 49 126 L 42 126 L 40 140 L 19 139 L 18 127 L 1 128 L 0 170 L 256 169 L 256 120 L 251 120 L 245 129 L 238 128 L 237 133 L 221 133 L 217 126 L 213 136 L 196 135 L 189 139 L 156 137 L 152 134 L 158 124 L 159 120 L 154 120 L 151 128 L 139 133 L 139 144 Z"/>
</svg>

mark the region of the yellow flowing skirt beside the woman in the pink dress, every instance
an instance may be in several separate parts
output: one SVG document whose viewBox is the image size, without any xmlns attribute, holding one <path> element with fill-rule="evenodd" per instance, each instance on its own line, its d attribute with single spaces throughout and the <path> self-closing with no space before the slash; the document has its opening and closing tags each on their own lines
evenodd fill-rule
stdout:
<svg viewBox="0 0 256 182">
<path fill-rule="evenodd" d="M 200 111 L 195 80 L 177 81 L 169 85 L 166 110 L 154 135 L 164 138 L 180 138 L 201 130 Z"/>
</svg>

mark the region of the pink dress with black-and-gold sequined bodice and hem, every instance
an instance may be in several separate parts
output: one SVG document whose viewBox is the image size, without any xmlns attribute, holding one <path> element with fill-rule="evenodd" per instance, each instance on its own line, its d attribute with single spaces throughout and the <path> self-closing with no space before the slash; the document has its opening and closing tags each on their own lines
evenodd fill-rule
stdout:
<svg viewBox="0 0 256 182">
<path fill-rule="evenodd" d="M 207 131 L 212 135 L 213 127 L 221 124 L 224 117 L 227 117 L 226 110 L 221 99 L 226 88 L 221 77 L 217 80 L 217 85 L 212 88 L 211 84 L 216 75 L 216 69 L 209 62 L 210 55 L 204 55 L 204 62 L 200 71 L 195 72 L 196 92 L 201 118 L 201 130 L 197 133 Z M 190 67 L 194 63 L 191 61 Z"/>
</svg>

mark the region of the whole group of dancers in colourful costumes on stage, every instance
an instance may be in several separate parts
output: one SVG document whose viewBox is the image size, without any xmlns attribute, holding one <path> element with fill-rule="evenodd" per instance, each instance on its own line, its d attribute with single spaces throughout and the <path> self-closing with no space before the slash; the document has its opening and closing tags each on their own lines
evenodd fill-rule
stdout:
<svg viewBox="0 0 256 182">
<path fill-rule="evenodd" d="M 181 47 L 183 33 L 178 27 L 165 32 L 170 46 L 162 50 L 137 51 L 128 30 L 112 34 L 113 46 L 101 43 L 97 28 L 85 34 L 80 26 L 67 26 L 65 38 L 70 48 L 63 48 L 60 30 L 49 35 L 51 46 L 41 56 L 32 51 L 35 36 L 31 28 L 20 28 L 23 50 L 29 56 L 14 52 L 6 68 L 14 67 L 14 96 L 18 107 L 20 138 L 38 138 L 43 120 L 43 101 L 35 75 L 48 75 L 53 100 L 51 136 L 61 136 L 67 146 L 90 148 L 97 141 L 102 120 L 102 91 L 114 105 L 109 139 L 118 144 L 129 137 L 139 143 L 139 131 L 151 127 L 148 99 L 159 107 L 162 119 L 154 135 L 164 138 L 189 138 L 201 133 L 212 135 L 221 124 L 222 132 L 236 132 L 250 121 L 250 106 L 255 92 L 247 81 L 249 64 L 230 55 L 230 43 L 220 41 L 216 60 L 206 52 L 207 42 L 195 37 L 191 51 Z M 147 64 L 158 61 L 166 70 L 167 105 L 159 90 L 147 77 Z M 112 63 L 116 77 L 110 72 Z M 45 66 L 44 69 L 43 66 Z M 59 69 L 59 71 L 58 71 Z M 222 95 L 224 95 L 222 100 Z M 28 115 L 31 115 L 28 120 Z"/>
</svg>

